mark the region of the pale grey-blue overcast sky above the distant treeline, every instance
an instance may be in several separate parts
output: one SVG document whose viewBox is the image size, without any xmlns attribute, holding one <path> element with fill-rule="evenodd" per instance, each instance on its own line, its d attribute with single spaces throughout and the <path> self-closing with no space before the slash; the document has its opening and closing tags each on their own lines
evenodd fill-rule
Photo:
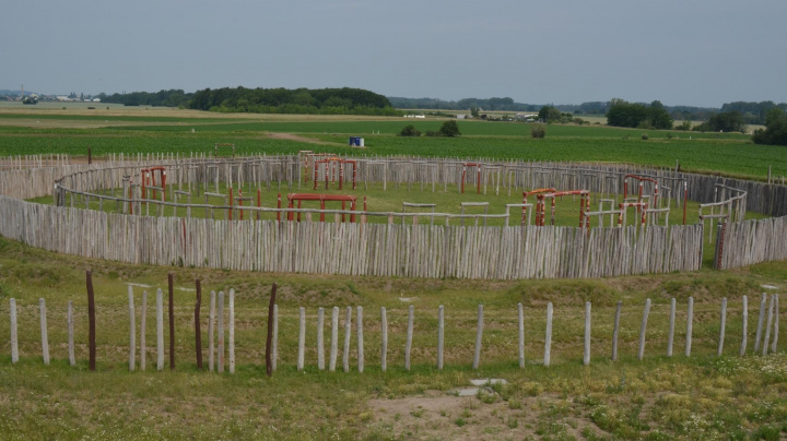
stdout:
<svg viewBox="0 0 787 441">
<path fill-rule="evenodd" d="M 787 102 L 785 0 L 8 0 L 0 88 Z"/>
</svg>

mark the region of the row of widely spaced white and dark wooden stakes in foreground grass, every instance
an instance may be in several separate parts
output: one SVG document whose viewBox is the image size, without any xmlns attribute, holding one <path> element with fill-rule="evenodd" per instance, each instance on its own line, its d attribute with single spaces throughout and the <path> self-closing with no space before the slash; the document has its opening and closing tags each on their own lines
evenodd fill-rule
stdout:
<svg viewBox="0 0 787 441">
<path fill-rule="evenodd" d="M 173 277 L 169 275 L 169 367 L 175 369 L 175 354 L 174 354 L 174 315 L 173 315 L 173 297 L 172 286 Z M 92 294 L 92 281 L 90 272 L 87 273 L 89 279 L 89 293 Z M 197 353 L 197 365 L 198 368 L 202 368 L 202 345 L 201 345 L 201 332 L 199 321 L 199 310 L 201 306 L 201 293 L 200 283 L 197 281 L 197 303 L 195 307 L 195 331 L 196 331 L 196 353 Z M 271 300 L 275 297 L 275 284 Z M 128 288 L 129 296 L 129 319 L 130 319 L 130 343 L 129 343 L 129 370 L 133 371 L 136 368 L 136 329 L 134 329 L 134 297 L 132 288 Z M 92 296 L 89 296 L 92 297 Z M 770 302 L 767 301 L 770 297 Z M 218 301 L 216 301 L 218 299 Z M 742 339 L 740 345 L 740 356 L 744 356 L 747 353 L 748 343 L 748 326 L 749 326 L 749 305 L 748 297 L 742 298 Z M 140 369 L 144 370 L 146 367 L 145 353 L 145 326 L 146 326 L 146 302 L 148 293 L 142 294 L 142 313 L 140 320 Z M 270 371 L 274 371 L 277 368 L 277 353 L 278 353 L 278 306 L 271 301 L 272 310 L 269 311 L 269 338 L 266 344 L 267 353 L 267 367 Z M 767 303 L 767 306 L 766 306 Z M 89 305 L 93 305 L 92 299 L 89 299 Z M 216 309 L 218 306 L 218 309 Z M 519 349 L 519 367 L 525 367 L 525 314 L 522 311 L 522 305 L 518 303 L 518 349 Z M 620 331 L 620 317 L 621 317 L 622 302 L 619 301 L 615 309 L 614 315 L 614 327 L 612 333 L 612 360 L 618 359 L 618 335 Z M 584 339 L 584 365 L 590 363 L 590 308 L 591 303 L 588 301 L 585 303 L 585 339 Z M 89 310 L 91 307 L 89 306 Z M 89 311 L 91 319 L 91 370 L 95 369 L 95 308 L 93 312 Z M 47 337 L 47 320 L 46 320 L 46 302 L 42 298 L 39 299 L 40 310 L 40 335 L 42 335 L 42 350 L 44 363 L 49 365 L 49 343 Z M 356 341 L 357 341 L 357 370 L 363 372 L 364 370 L 364 339 L 363 339 L 363 307 L 357 307 L 356 315 Z M 346 315 L 344 320 L 344 346 L 342 351 L 342 367 L 344 372 L 350 371 L 350 345 L 352 337 L 352 307 L 346 307 Z M 445 308 L 439 306 L 437 312 L 437 369 L 443 369 L 443 355 L 444 355 L 444 342 L 445 342 Z M 337 367 L 338 358 L 338 346 L 339 346 L 339 307 L 333 307 L 331 314 L 331 336 L 330 336 L 330 354 L 328 361 L 328 369 L 334 371 Z M 643 312 L 642 326 L 639 329 L 639 343 L 637 349 L 637 358 L 639 360 L 645 356 L 645 334 L 647 329 L 647 320 L 650 313 L 650 299 L 645 301 L 645 310 Z M 553 307 L 552 302 L 547 305 L 547 330 L 544 335 L 544 355 L 543 365 L 550 366 L 550 351 L 552 346 L 552 314 Z M 17 343 L 17 331 L 16 331 L 16 300 L 10 299 L 10 319 L 11 319 L 11 361 L 13 363 L 19 361 L 19 343 Z M 691 356 L 692 345 L 692 326 L 694 315 L 694 298 L 689 297 L 688 314 L 686 314 L 686 336 L 685 336 L 685 356 Z M 775 353 L 778 342 L 778 295 L 774 294 L 767 296 L 765 293 L 762 294 L 760 299 L 760 315 L 757 320 L 756 334 L 754 337 L 754 353 L 766 355 L 768 353 L 768 345 L 771 345 L 771 351 Z M 767 317 L 767 318 L 766 318 Z M 669 334 L 667 342 L 667 356 L 672 357 L 672 349 L 674 343 L 674 321 L 676 319 L 676 299 L 672 298 L 670 302 L 670 319 L 669 319 Z M 413 337 L 413 320 L 414 320 L 414 308 L 409 307 L 408 311 L 408 327 L 407 327 L 407 343 L 404 346 L 404 369 L 410 370 L 410 354 L 412 349 L 412 337 Z M 218 324 L 214 325 L 218 321 Z M 720 326 L 718 336 L 718 349 L 717 355 L 721 356 L 725 342 L 725 327 L 727 322 L 727 298 L 721 299 L 721 312 L 720 312 Z M 230 289 L 228 293 L 228 338 L 227 348 L 225 350 L 224 339 L 224 293 L 220 291 L 216 296 L 215 291 L 211 291 L 210 295 L 210 319 L 208 324 L 209 334 L 209 346 L 208 346 L 208 366 L 209 370 L 214 369 L 219 372 L 224 371 L 225 366 L 225 353 L 228 355 L 228 371 L 230 373 L 235 372 L 235 291 Z M 324 370 L 326 368 L 325 359 L 325 309 L 319 308 L 317 311 L 317 368 Z M 773 331 L 773 339 L 771 339 L 771 332 Z M 763 335 L 764 332 L 764 335 Z M 215 335 L 218 334 L 218 335 Z M 386 308 L 380 308 L 380 369 L 385 372 L 387 370 L 387 353 L 388 353 L 388 318 Z M 475 347 L 473 351 L 472 368 L 478 369 L 481 362 L 481 346 L 483 336 L 483 305 L 478 306 L 478 326 L 475 334 Z M 218 338 L 214 338 L 218 337 Z M 74 356 L 74 338 L 73 338 L 73 306 L 72 302 L 68 302 L 68 347 L 69 347 L 69 362 L 71 366 L 75 366 Z M 215 346 L 214 346 L 215 342 Z M 762 345 L 761 345 L 762 343 Z M 306 309 L 299 308 L 298 310 L 298 351 L 297 351 L 297 370 L 303 370 L 305 366 L 305 348 L 306 348 Z M 163 293 L 162 289 L 156 290 L 156 369 L 162 370 L 164 368 L 164 308 L 163 308 Z"/>
</svg>

